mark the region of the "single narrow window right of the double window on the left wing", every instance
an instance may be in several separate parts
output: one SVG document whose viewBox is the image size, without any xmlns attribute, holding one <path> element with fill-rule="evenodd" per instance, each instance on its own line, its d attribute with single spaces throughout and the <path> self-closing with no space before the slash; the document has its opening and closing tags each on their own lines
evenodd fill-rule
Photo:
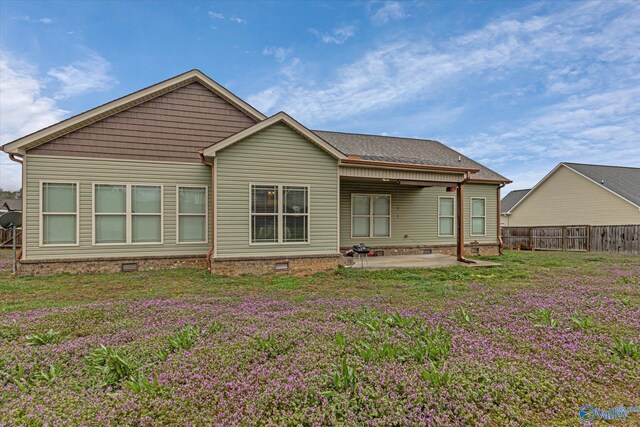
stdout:
<svg viewBox="0 0 640 427">
<path fill-rule="evenodd" d="M 178 187 L 178 243 L 207 243 L 207 187 Z"/>
</svg>

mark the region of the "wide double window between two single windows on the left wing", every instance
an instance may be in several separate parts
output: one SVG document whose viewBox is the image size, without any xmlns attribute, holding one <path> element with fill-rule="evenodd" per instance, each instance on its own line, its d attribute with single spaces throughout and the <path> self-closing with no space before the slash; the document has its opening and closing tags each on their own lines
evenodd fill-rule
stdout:
<svg viewBox="0 0 640 427">
<path fill-rule="evenodd" d="M 94 244 L 162 243 L 162 186 L 94 184 Z"/>
</svg>

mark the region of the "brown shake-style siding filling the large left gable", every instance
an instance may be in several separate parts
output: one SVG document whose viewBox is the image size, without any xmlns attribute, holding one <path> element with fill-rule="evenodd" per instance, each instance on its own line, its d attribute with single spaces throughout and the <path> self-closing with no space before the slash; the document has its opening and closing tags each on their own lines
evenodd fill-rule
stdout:
<svg viewBox="0 0 640 427">
<path fill-rule="evenodd" d="M 200 83 L 191 83 L 28 153 L 200 163 L 198 150 L 254 124 Z"/>
</svg>

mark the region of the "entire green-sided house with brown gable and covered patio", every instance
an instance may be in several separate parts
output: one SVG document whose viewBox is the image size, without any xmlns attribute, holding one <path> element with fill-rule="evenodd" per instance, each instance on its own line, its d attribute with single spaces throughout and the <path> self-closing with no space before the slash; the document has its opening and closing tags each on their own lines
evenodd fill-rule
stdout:
<svg viewBox="0 0 640 427">
<path fill-rule="evenodd" d="M 23 163 L 22 274 L 332 269 L 496 253 L 509 180 L 436 141 L 312 131 L 192 70 L 5 144 Z"/>
</svg>

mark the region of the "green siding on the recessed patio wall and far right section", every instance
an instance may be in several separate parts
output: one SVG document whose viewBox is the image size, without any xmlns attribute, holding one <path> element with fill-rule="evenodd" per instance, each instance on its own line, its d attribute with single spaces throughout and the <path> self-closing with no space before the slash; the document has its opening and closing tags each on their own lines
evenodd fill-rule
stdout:
<svg viewBox="0 0 640 427">
<path fill-rule="evenodd" d="M 497 186 L 464 185 L 465 242 L 497 242 Z M 391 237 L 351 237 L 351 194 L 391 194 Z M 343 180 L 340 184 L 340 246 L 360 242 L 372 247 L 455 244 L 455 237 L 438 237 L 438 196 L 455 197 L 444 187 L 419 188 L 393 183 L 373 183 Z M 486 198 L 486 235 L 470 236 L 470 200 Z M 457 218 L 457 208 L 456 208 Z M 457 222 L 456 222 L 457 223 Z M 407 238 L 404 236 L 408 235 Z"/>
</svg>

